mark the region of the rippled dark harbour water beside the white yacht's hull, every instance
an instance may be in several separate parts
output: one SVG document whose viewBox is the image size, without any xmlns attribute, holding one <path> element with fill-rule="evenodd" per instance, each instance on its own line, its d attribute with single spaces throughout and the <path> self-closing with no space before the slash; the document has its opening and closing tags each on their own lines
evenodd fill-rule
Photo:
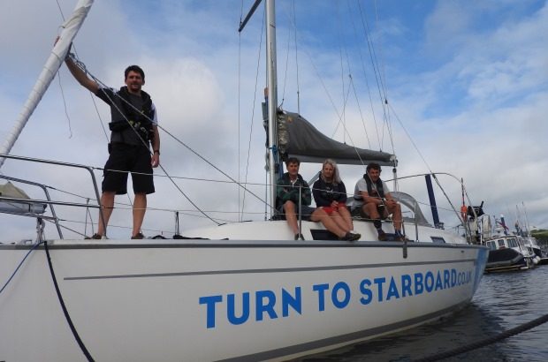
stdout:
<svg viewBox="0 0 548 362">
<path fill-rule="evenodd" d="M 407 362 L 496 336 L 548 313 L 548 265 L 483 275 L 472 303 L 444 321 L 338 351 L 302 358 L 303 362 Z M 540 362 L 548 360 L 548 323 L 499 343 L 443 361 Z"/>
</svg>

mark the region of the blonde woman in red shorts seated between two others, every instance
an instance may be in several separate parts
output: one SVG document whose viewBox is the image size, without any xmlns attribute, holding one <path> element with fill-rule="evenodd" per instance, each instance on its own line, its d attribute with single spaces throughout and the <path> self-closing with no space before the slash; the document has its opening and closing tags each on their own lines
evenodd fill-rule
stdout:
<svg viewBox="0 0 548 362">
<path fill-rule="evenodd" d="M 354 241 L 361 238 L 354 230 L 352 216 L 346 208 L 346 187 L 339 176 L 337 162 L 327 159 L 323 162 L 320 177 L 312 187 L 316 201 L 316 212 L 323 216 L 325 229 L 330 230 L 341 239 Z"/>
</svg>

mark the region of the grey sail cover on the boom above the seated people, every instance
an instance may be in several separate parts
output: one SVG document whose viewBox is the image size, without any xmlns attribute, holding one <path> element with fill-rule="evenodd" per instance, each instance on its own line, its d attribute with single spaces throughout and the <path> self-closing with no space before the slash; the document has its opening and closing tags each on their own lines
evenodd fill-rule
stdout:
<svg viewBox="0 0 548 362">
<path fill-rule="evenodd" d="M 397 164 L 395 155 L 332 140 L 298 113 L 286 111 L 278 112 L 278 149 L 284 158 L 297 157 L 301 162 L 322 163 L 326 158 L 332 158 L 339 164 Z"/>
</svg>

